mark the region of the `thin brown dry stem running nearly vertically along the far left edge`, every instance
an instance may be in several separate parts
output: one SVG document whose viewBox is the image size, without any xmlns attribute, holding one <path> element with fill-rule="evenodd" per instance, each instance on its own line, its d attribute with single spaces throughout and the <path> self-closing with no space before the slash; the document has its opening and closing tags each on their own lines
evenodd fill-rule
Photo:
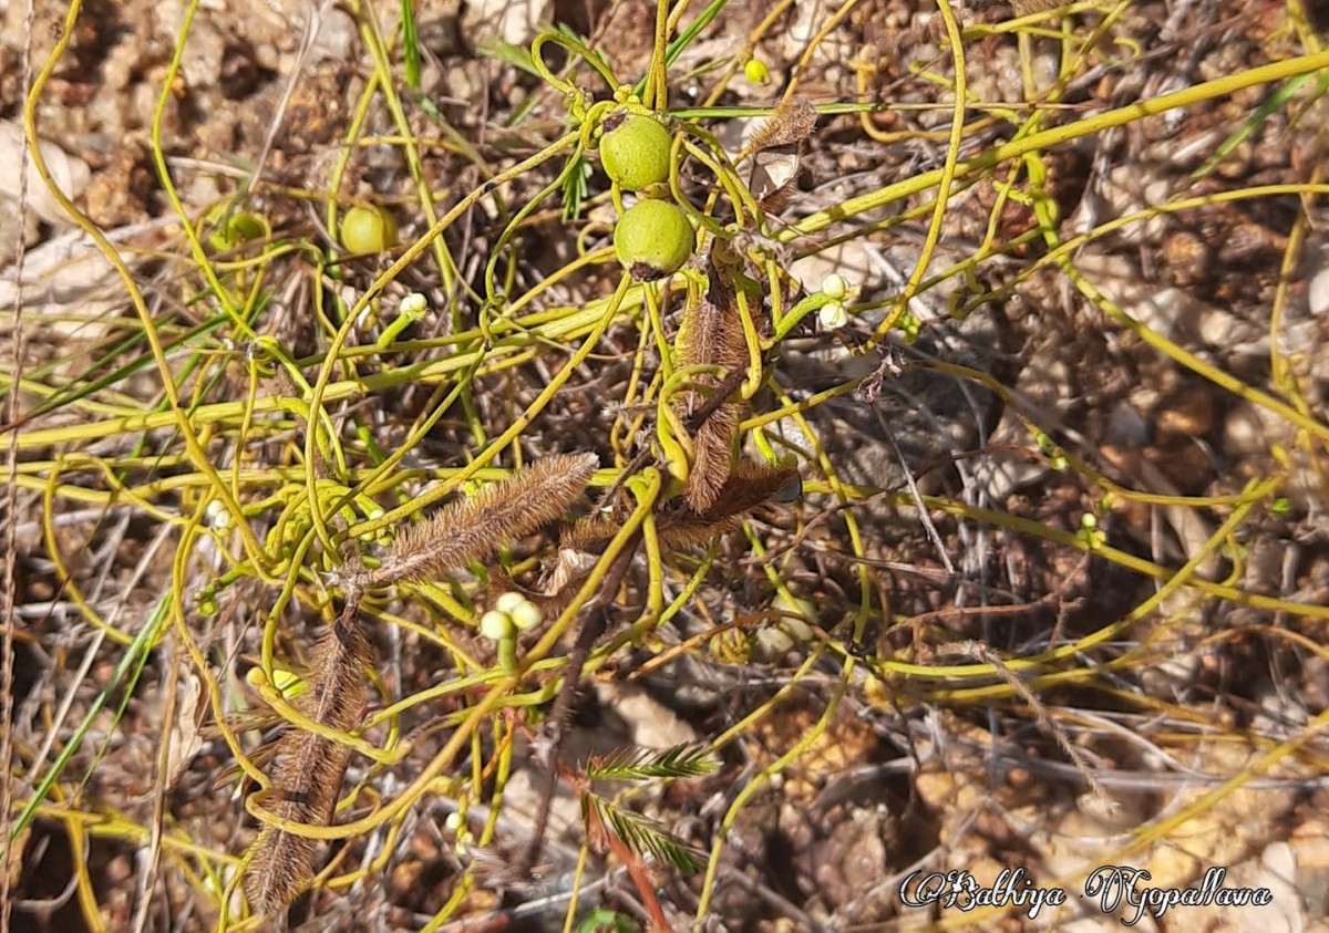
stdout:
<svg viewBox="0 0 1329 933">
<path fill-rule="evenodd" d="M 28 100 L 32 89 L 32 36 L 36 24 L 36 4 L 28 0 L 25 11 L 27 32 L 23 37 L 23 61 L 20 65 L 21 100 Z M 13 379 L 9 381 L 8 412 L 0 421 L 16 421 L 19 417 L 19 384 L 23 381 L 23 262 L 27 255 L 24 225 L 28 217 L 28 133 L 23 134 L 23 149 L 19 158 L 19 243 L 15 257 L 13 279 L 13 332 L 11 350 L 13 352 Z M 13 844 L 9 831 L 13 825 L 11 804 L 13 801 L 13 626 L 15 605 L 17 603 L 17 562 L 19 534 L 19 432 L 9 433 L 5 457 L 8 478 L 5 481 L 5 532 L 4 532 L 4 579 L 0 594 L 0 611 L 4 614 L 4 634 L 0 637 L 0 930 L 9 929 L 9 876 L 13 865 Z"/>
</svg>

